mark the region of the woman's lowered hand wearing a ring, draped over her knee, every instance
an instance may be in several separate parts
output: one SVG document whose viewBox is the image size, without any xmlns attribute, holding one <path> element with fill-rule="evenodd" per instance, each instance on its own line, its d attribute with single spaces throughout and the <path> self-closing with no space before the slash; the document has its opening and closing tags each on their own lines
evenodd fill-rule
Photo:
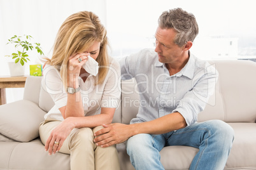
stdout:
<svg viewBox="0 0 256 170">
<path fill-rule="evenodd" d="M 49 155 L 59 152 L 62 147 L 64 140 L 71 133 L 72 129 L 75 128 L 75 125 L 71 121 L 71 117 L 68 117 L 62 121 L 59 126 L 52 130 L 48 140 L 45 143 L 45 150 L 48 151 Z"/>
</svg>

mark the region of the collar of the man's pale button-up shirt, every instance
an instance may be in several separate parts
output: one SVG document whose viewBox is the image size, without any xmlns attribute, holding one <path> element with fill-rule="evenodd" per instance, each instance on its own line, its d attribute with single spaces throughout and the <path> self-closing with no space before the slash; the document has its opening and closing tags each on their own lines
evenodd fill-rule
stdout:
<svg viewBox="0 0 256 170">
<path fill-rule="evenodd" d="M 195 70 L 195 56 L 192 55 L 190 53 L 190 51 L 188 51 L 189 54 L 189 59 L 188 62 L 186 63 L 186 65 L 183 67 L 183 69 L 180 70 L 180 72 L 176 73 L 175 75 L 180 77 L 181 75 L 184 75 L 186 77 L 188 77 L 189 79 L 192 79 L 194 77 L 194 70 Z M 159 60 L 156 60 L 155 62 L 155 67 L 161 67 L 165 65 L 161 62 L 159 62 Z"/>
</svg>

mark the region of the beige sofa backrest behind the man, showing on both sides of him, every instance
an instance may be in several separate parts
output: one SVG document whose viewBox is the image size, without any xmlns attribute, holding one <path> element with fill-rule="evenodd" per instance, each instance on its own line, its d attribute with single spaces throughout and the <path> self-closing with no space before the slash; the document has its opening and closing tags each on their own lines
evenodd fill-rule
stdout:
<svg viewBox="0 0 256 170">
<path fill-rule="evenodd" d="M 256 121 L 256 63 L 244 60 L 209 61 L 219 73 L 215 93 L 206 108 L 198 115 L 198 122 L 220 119 L 225 122 Z M 139 95 L 136 81 L 122 82 L 122 123 L 129 124 L 136 117 Z M 254 103 L 255 102 L 255 103 Z"/>
</svg>

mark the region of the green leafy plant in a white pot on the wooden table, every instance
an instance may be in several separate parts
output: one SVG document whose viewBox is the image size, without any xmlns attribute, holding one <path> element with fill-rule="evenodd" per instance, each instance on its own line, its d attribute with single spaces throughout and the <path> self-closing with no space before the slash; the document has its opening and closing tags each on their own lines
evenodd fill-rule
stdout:
<svg viewBox="0 0 256 170">
<path fill-rule="evenodd" d="M 9 62 L 11 76 L 24 75 L 25 67 L 24 64 L 29 60 L 29 51 L 37 51 L 40 55 L 44 55 L 40 43 L 32 42 L 32 36 L 13 36 L 8 39 L 7 44 L 13 44 L 15 53 L 9 56 L 13 59 L 13 62 Z M 29 60 L 30 61 L 30 60 Z"/>
</svg>

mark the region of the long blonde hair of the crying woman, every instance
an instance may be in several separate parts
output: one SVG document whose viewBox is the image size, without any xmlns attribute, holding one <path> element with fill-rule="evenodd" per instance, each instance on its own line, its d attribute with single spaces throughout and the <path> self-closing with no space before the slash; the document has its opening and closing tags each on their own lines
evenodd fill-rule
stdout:
<svg viewBox="0 0 256 170">
<path fill-rule="evenodd" d="M 46 63 L 59 70 L 65 89 L 67 88 L 69 56 L 84 52 L 92 46 L 94 41 L 101 42 L 96 59 L 99 63 L 96 84 L 101 84 L 108 72 L 109 61 L 106 29 L 99 17 L 92 12 L 81 11 L 69 16 L 60 26 L 53 45 L 52 59 L 46 58 Z"/>
</svg>

